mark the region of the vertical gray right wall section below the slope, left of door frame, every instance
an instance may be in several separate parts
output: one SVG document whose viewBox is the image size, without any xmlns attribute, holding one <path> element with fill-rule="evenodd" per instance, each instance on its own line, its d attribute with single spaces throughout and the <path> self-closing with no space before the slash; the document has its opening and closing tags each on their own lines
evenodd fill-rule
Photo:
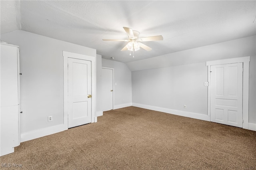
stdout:
<svg viewBox="0 0 256 170">
<path fill-rule="evenodd" d="M 132 102 L 207 115 L 205 81 L 205 63 L 132 71 Z"/>
</svg>

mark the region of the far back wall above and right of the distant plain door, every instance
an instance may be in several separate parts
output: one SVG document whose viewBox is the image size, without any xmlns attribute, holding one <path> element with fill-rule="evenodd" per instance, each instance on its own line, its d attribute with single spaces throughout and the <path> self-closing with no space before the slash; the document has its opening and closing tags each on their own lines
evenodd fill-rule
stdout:
<svg viewBox="0 0 256 170">
<path fill-rule="evenodd" d="M 131 106 L 132 73 L 130 69 L 125 63 L 103 58 L 102 67 L 114 68 L 114 82 L 117 83 L 117 85 L 114 85 L 114 109 Z M 102 82 L 102 85 L 104 85 L 104 82 Z"/>
</svg>

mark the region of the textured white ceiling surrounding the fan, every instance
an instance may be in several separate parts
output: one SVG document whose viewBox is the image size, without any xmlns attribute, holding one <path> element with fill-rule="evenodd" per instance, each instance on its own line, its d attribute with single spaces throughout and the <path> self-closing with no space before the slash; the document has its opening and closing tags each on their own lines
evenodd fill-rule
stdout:
<svg viewBox="0 0 256 170">
<path fill-rule="evenodd" d="M 103 58 L 130 62 L 204 45 L 256 35 L 256 1 L 0 1 L 1 34 L 24 30 L 97 49 Z M 135 57 L 120 51 L 127 39 L 122 27 L 144 42 Z"/>
</svg>

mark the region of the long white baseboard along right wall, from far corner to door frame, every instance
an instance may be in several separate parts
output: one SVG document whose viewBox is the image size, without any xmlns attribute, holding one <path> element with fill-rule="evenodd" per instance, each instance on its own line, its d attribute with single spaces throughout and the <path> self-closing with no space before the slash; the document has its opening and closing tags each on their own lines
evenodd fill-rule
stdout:
<svg viewBox="0 0 256 170">
<path fill-rule="evenodd" d="M 198 114 L 198 113 L 192 113 L 192 112 L 187 112 L 187 111 L 178 111 L 178 110 L 174 110 L 174 109 L 166 109 L 166 108 L 156 107 L 156 106 L 142 105 L 139 103 L 132 103 L 132 106 L 140 107 L 143 109 L 149 109 L 149 110 L 153 110 L 153 111 L 170 113 L 173 115 L 179 115 L 179 116 L 190 117 L 190 118 L 194 118 L 194 119 L 200 119 L 203 121 L 210 121 L 210 116 L 202 115 L 202 114 Z"/>
</svg>

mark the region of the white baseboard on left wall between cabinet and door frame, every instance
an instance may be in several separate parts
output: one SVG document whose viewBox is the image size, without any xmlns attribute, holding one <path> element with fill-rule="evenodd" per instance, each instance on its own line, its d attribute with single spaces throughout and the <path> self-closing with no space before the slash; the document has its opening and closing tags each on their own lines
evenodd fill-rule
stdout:
<svg viewBox="0 0 256 170">
<path fill-rule="evenodd" d="M 31 132 L 22 133 L 22 134 L 20 134 L 20 142 L 25 142 L 28 140 L 47 136 L 50 134 L 62 132 L 67 129 L 68 129 L 68 127 L 65 127 L 64 124 L 62 124 L 62 125 L 56 125 L 53 127 L 47 127 L 47 128 L 42 128 L 42 129 L 38 129 L 38 130 L 33 130 Z"/>
</svg>

